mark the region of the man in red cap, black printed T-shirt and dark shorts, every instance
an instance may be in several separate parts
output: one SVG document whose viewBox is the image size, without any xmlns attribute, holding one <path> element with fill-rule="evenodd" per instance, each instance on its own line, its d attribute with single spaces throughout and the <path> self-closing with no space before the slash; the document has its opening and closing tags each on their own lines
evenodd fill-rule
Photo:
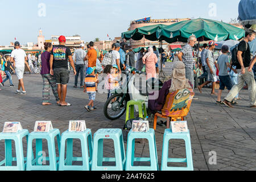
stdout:
<svg viewBox="0 0 256 182">
<path fill-rule="evenodd" d="M 67 85 L 69 82 L 68 61 L 76 75 L 76 68 L 72 59 L 71 51 L 65 46 L 65 36 L 59 37 L 59 46 L 54 46 L 49 60 L 50 73 L 54 75 L 57 84 L 60 106 L 71 106 L 65 101 L 67 95 Z"/>
</svg>

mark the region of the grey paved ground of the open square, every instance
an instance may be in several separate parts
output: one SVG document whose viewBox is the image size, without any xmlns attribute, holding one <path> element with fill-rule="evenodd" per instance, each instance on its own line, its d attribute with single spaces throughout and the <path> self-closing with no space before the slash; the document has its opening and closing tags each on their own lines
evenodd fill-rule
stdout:
<svg viewBox="0 0 256 182">
<path fill-rule="evenodd" d="M 168 74 L 168 65 L 164 71 Z M 103 106 L 106 94 L 97 94 L 97 110 L 88 113 L 84 106 L 88 104 L 88 94 L 82 92 L 81 88 L 73 88 L 74 76 L 71 74 L 68 85 L 67 101 L 71 107 L 60 107 L 55 104 L 51 93 L 51 106 L 42 106 L 43 81 L 40 75 L 26 74 L 24 82 L 27 95 L 21 96 L 14 93 L 17 89 L 18 80 L 13 75 L 15 88 L 9 87 L 9 82 L 0 91 L 0 129 L 6 121 L 20 121 L 23 129 L 30 132 L 34 129 L 35 121 L 51 120 L 53 127 L 60 132 L 68 129 L 69 120 L 86 120 L 86 126 L 94 134 L 98 129 L 117 128 L 122 129 L 125 117 L 116 121 L 109 121 L 103 114 Z M 191 132 L 193 166 L 195 170 L 255 170 L 256 169 L 256 117 L 255 109 L 249 107 L 249 92 L 242 90 L 238 105 L 234 109 L 226 106 L 215 105 L 217 96 L 210 96 L 210 89 L 204 88 L 200 94 L 196 89 L 196 97 L 193 100 L 191 111 L 187 115 L 188 127 Z M 225 91 L 222 96 L 226 96 Z M 150 118 L 150 126 L 153 122 Z M 156 145 L 158 151 L 159 166 L 162 159 L 162 142 L 164 127 L 156 128 Z M 127 132 L 123 131 L 125 148 Z M 75 140 L 74 155 L 81 156 L 80 142 Z M 24 152 L 26 155 L 26 143 Z M 44 143 L 45 147 L 45 143 Z M 173 140 L 170 145 L 170 157 L 184 158 L 184 142 Z M 47 151 L 47 150 L 46 150 Z M 217 164 L 210 164 L 209 152 L 217 154 Z M 113 143 L 104 143 L 104 156 L 111 157 L 114 154 Z M 149 156 L 148 143 L 135 144 L 135 156 Z M 5 158 L 5 144 L 0 142 L 0 160 Z M 174 164 L 177 166 L 177 164 Z"/>
</svg>

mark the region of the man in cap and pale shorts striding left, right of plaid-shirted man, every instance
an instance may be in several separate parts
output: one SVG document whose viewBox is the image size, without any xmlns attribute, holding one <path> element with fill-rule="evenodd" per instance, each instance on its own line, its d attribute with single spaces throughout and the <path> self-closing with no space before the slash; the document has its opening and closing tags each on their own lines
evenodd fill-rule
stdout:
<svg viewBox="0 0 256 182">
<path fill-rule="evenodd" d="M 207 81 L 205 81 L 202 85 L 197 86 L 200 93 L 202 93 L 203 86 L 212 82 L 212 93 L 210 93 L 210 94 L 216 95 L 215 86 L 216 86 L 216 81 L 217 81 L 217 75 L 216 75 L 216 70 L 214 68 L 214 60 L 213 60 L 213 49 L 215 48 L 215 46 L 218 46 L 218 44 L 216 44 L 214 41 L 210 41 L 209 49 L 205 53 L 205 62 L 206 62 L 205 69 L 208 72 L 208 78 L 207 78 Z"/>
</svg>

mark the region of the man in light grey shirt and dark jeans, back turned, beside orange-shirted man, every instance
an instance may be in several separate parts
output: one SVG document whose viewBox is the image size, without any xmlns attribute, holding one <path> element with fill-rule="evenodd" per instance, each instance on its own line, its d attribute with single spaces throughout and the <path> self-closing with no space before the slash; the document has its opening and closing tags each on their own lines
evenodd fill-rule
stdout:
<svg viewBox="0 0 256 182">
<path fill-rule="evenodd" d="M 80 44 L 80 48 L 75 50 L 73 55 L 73 60 L 76 65 L 76 76 L 75 76 L 75 85 L 74 88 L 77 88 L 77 81 L 80 73 L 80 88 L 84 87 L 84 58 L 86 56 L 86 52 L 84 51 L 84 44 Z M 76 60 L 76 61 L 75 61 Z"/>
</svg>

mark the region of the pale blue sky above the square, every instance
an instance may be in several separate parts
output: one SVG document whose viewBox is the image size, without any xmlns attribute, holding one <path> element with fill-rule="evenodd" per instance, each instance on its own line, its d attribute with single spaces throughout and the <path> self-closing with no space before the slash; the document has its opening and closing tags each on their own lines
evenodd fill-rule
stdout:
<svg viewBox="0 0 256 182">
<path fill-rule="evenodd" d="M 131 20 L 206 18 L 229 22 L 238 17 L 240 0 L 13 0 L 0 1 L 0 45 L 14 38 L 21 43 L 37 42 L 41 27 L 46 39 L 51 35 L 79 34 L 89 42 L 108 40 L 127 31 Z M 43 6 L 38 7 L 40 3 Z M 214 3 L 214 6 L 209 5 Z M 216 10 L 216 11 L 215 11 Z M 44 16 L 45 12 L 45 16 Z M 209 15 L 216 15 L 210 16 Z M 39 16 L 39 14 L 41 16 Z M 42 16 L 43 15 L 43 16 Z"/>
</svg>

